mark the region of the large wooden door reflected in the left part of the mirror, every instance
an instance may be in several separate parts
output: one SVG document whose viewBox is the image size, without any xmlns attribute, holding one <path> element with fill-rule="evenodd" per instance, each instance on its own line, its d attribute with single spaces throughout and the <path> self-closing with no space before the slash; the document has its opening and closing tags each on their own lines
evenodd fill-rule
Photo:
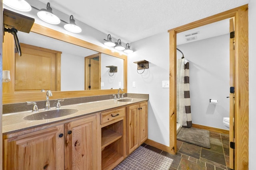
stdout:
<svg viewBox="0 0 256 170">
<path fill-rule="evenodd" d="M 15 53 L 15 92 L 59 91 L 60 51 L 20 43 L 22 57 Z"/>
</svg>

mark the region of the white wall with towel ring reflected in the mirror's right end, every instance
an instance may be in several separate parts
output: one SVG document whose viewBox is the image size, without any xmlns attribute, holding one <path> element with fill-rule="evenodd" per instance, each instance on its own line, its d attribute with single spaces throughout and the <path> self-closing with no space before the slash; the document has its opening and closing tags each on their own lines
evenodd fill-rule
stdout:
<svg viewBox="0 0 256 170">
<path fill-rule="evenodd" d="M 109 73 L 110 68 L 106 66 L 117 66 L 117 72 Z M 101 82 L 104 86 L 101 89 L 124 88 L 124 60 L 106 54 L 101 54 Z M 119 86 L 121 82 L 121 86 Z M 121 93 L 121 92 L 120 92 Z"/>
</svg>

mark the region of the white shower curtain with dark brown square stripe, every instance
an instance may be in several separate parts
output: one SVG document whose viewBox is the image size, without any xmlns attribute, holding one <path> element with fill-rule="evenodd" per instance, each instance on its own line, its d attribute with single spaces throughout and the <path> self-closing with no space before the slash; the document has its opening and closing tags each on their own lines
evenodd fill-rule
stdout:
<svg viewBox="0 0 256 170">
<path fill-rule="evenodd" d="M 177 62 L 177 123 L 192 127 L 189 91 L 189 63 L 186 59 Z"/>
</svg>

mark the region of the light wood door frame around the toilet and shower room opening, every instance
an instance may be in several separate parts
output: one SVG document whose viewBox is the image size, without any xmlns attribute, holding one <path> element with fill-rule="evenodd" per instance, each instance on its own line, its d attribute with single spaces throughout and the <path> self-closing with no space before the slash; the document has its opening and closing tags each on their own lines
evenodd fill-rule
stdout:
<svg viewBox="0 0 256 170">
<path fill-rule="evenodd" d="M 194 21 L 180 27 L 170 29 L 170 147 L 169 152 L 176 154 L 176 34 L 214 23 L 216 21 L 235 18 L 235 167 L 248 170 L 248 138 L 249 138 L 249 88 L 248 88 L 248 4 Z M 237 64 L 236 64 L 237 63 Z M 239 63 L 239 64 L 238 64 Z"/>
</svg>

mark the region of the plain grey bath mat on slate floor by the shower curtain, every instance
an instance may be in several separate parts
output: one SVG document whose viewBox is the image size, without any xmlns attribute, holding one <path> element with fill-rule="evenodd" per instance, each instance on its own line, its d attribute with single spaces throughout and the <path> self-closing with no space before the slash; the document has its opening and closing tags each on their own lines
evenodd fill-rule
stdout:
<svg viewBox="0 0 256 170">
<path fill-rule="evenodd" d="M 211 148 L 210 131 L 208 130 L 182 127 L 177 135 L 177 139 L 201 147 Z"/>
</svg>

